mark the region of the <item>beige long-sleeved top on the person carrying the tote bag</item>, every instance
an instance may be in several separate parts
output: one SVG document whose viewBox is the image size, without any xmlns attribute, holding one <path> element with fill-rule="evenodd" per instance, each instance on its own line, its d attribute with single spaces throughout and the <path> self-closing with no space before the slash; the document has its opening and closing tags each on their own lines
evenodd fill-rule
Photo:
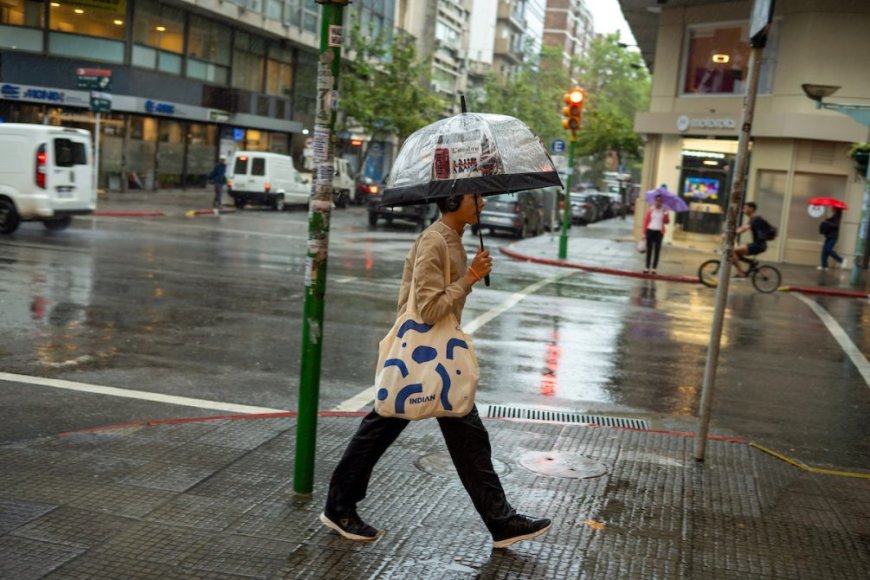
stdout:
<svg viewBox="0 0 870 580">
<path fill-rule="evenodd" d="M 444 270 L 449 256 L 451 284 L 444 286 Z M 440 220 L 420 234 L 408 255 L 399 289 L 399 315 L 405 312 L 411 290 L 411 277 L 416 275 L 417 312 L 426 324 L 435 324 L 451 310 L 462 322 L 465 298 L 471 285 L 465 280 L 468 256 L 462 238 Z"/>
</svg>

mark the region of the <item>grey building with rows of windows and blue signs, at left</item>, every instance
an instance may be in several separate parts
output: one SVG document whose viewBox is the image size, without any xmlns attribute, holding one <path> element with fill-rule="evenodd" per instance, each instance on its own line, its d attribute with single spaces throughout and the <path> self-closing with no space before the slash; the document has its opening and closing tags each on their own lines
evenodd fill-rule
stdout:
<svg viewBox="0 0 870 580">
<path fill-rule="evenodd" d="M 78 73 L 110 73 L 99 186 L 202 186 L 220 154 L 301 154 L 318 24 L 310 0 L 0 0 L 0 118 L 93 132 Z"/>
</svg>

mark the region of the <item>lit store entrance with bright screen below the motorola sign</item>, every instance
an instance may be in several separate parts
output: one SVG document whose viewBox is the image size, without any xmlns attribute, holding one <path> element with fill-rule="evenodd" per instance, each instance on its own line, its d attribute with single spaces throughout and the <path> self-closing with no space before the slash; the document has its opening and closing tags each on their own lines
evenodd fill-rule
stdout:
<svg viewBox="0 0 870 580">
<path fill-rule="evenodd" d="M 683 140 L 679 194 L 689 206 L 689 211 L 677 214 L 683 231 L 722 232 L 736 153 L 734 140 Z"/>
</svg>

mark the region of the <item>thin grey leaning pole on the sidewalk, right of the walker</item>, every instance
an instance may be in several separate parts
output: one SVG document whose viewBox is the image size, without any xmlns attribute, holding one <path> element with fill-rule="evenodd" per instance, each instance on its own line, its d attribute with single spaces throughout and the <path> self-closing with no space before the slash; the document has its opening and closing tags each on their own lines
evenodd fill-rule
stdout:
<svg viewBox="0 0 870 580">
<path fill-rule="evenodd" d="M 740 121 L 740 139 L 737 142 L 737 158 L 734 162 L 734 181 L 725 217 L 725 240 L 722 242 L 722 259 L 719 266 L 719 283 L 716 286 L 716 301 L 713 310 L 713 327 L 710 330 L 710 346 L 704 366 L 704 384 L 701 388 L 701 407 L 698 432 L 695 434 L 695 459 L 704 461 L 707 433 L 710 430 L 710 415 L 713 408 L 713 391 L 716 386 L 716 371 L 719 366 L 719 347 L 722 343 L 722 326 L 725 321 L 725 305 L 728 301 L 728 285 L 731 281 L 731 258 L 734 240 L 737 237 L 737 220 L 746 191 L 746 170 L 749 167 L 749 138 L 752 118 L 755 115 L 755 95 L 758 92 L 758 69 L 761 66 L 761 47 L 752 48 L 749 57 L 748 88 L 743 99 L 743 118 Z"/>
</svg>

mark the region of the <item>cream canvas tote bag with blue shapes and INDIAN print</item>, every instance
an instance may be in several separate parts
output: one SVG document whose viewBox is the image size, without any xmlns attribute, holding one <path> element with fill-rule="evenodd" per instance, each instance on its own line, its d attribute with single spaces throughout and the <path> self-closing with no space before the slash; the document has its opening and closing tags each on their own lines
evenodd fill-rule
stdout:
<svg viewBox="0 0 870 580">
<path fill-rule="evenodd" d="M 450 256 L 444 242 L 450 284 Z M 404 314 L 378 347 L 375 412 L 382 417 L 417 421 L 462 417 L 474 406 L 480 369 L 471 337 L 462 332 L 453 312 L 425 324 L 417 312 L 416 275 Z"/>
</svg>

